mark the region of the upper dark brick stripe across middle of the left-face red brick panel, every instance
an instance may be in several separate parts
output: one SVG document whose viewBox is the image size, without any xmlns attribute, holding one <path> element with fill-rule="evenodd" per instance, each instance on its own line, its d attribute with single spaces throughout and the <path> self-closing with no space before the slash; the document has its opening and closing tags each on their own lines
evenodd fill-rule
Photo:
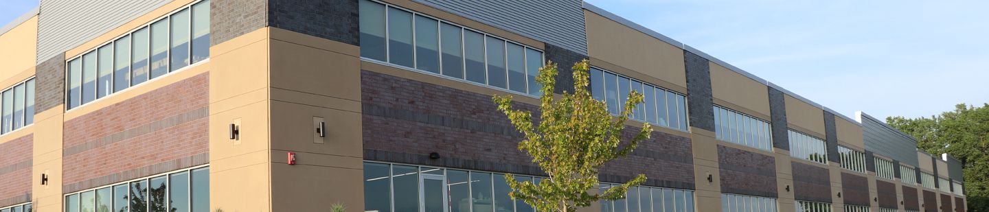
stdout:
<svg viewBox="0 0 989 212">
<path fill-rule="evenodd" d="M 210 106 L 204 106 L 198 109 L 193 109 L 180 114 L 172 115 L 170 117 L 162 118 L 154 122 L 146 123 L 121 132 L 117 132 L 101 138 L 93 139 L 91 141 L 87 141 L 79 145 L 65 148 L 65 151 L 62 153 L 62 157 L 69 157 L 75 154 L 83 153 L 89 150 L 114 144 L 120 141 L 135 138 L 137 136 L 158 131 L 161 129 L 165 129 L 168 127 L 176 126 L 183 123 L 188 123 L 194 120 L 199 120 L 201 118 L 205 118 L 209 116 L 209 114 L 210 114 Z"/>
</svg>

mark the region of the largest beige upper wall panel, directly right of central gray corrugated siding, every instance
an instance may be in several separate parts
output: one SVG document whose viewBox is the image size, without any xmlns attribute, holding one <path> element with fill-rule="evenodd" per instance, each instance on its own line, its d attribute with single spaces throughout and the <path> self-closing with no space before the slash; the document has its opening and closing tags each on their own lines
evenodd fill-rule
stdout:
<svg viewBox="0 0 989 212">
<path fill-rule="evenodd" d="M 584 20 L 589 56 L 686 88 L 683 49 L 589 11 Z"/>
</svg>

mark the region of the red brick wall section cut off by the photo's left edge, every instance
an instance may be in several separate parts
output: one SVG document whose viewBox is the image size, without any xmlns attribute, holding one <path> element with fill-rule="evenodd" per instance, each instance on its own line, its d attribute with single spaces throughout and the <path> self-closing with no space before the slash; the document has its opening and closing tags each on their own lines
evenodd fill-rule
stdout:
<svg viewBox="0 0 989 212">
<path fill-rule="evenodd" d="M 34 134 L 0 144 L 0 208 L 31 201 Z"/>
</svg>

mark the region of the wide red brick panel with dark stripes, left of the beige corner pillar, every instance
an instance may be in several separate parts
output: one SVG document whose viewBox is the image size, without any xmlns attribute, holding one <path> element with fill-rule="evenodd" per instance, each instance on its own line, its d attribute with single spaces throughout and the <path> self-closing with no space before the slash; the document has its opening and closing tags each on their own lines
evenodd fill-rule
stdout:
<svg viewBox="0 0 989 212">
<path fill-rule="evenodd" d="M 209 163 L 209 73 L 66 120 L 65 192 Z"/>
</svg>

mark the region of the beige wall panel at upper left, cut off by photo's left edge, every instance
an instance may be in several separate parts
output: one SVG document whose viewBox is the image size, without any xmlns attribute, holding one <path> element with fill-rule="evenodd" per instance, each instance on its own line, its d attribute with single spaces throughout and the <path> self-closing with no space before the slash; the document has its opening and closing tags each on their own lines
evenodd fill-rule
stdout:
<svg viewBox="0 0 989 212">
<path fill-rule="evenodd" d="M 35 67 L 38 53 L 38 16 L 0 35 L 0 80 Z M 4 86 L 3 88 L 6 88 Z"/>
</svg>

